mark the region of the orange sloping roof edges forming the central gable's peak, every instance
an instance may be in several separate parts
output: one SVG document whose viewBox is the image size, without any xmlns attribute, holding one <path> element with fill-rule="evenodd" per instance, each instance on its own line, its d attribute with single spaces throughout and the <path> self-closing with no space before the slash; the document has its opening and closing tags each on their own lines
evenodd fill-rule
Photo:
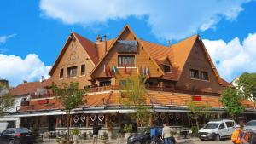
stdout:
<svg viewBox="0 0 256 144">
<path fill-rule="evenodd" d="M 109 51 L 113 48 L 113 45 L 118 41 L 119 37 L 121 37 L 121 35 L 123 34 L 123 32 L 125 32 L 125 29 L 128 29 L 132 35 L 135 37 L 135 39 L 137 40 L 137 43 L 140 43 L 143 46 L 143 43 L 141 43 L 141 41 L 137 38 L 136 34 L 131 30 L 131 27 L 129 25 L 125 25 L 125 27 L 123 28 L 123 30 L 119 33 L 119 36 L 116 39 L 113 39 L 113 43 L 111 43 L 110 47 L 108 48 L 107 52 L 102 55 L 102 59 L 98 62 L 98 64 L 94 67 L 94 69 L 92 70 L 92 72 L 90 72 L 90 75 L 92 75 L 95 71 L 96 68 L 98 66 L 101 65 L 102 60 L 104 60 L 104 58 L 108 55 Z M 143 46 L 144 48 L 144 46 Z M 162 74 L 164 74 L 164 72 L 160 69 L 160 66 L 157 65 L 156 61 L 154 60 L 154 58 L 152 57 L 152 55 L 149 54 L 148 49 L 145 49 L 145 52 L 148 54 L 149 58 L 153 61 L 153 63 L 155 64 L 155 66 L 157 66 L 160 70 L 160 72 Z"/>
</svg>

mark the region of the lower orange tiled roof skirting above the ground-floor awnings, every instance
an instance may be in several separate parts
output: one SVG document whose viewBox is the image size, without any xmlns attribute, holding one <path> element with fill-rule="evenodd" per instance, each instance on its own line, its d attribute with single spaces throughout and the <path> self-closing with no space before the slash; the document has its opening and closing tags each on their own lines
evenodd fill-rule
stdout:
<svg viewBox="0 0 256 144">
<path fill-rule="evenodd" d="M 223 107 L 222 103 L 219 101 L 218 96 L 208 96 L 200 95 L 201 101 L 195 101 L 195 105 L 209 107 Z M 179 93 L 170 93 L 162 91 L 148 91 L 146 95 L 146 101 L 148 105 L 159 104 L 162 106 L 173 105 L 177 107 L 186 107 L 189 102 L 192 101 L 192 95 L 179 94 Z M 103 94 L 96 95 L 87 95 L 86 96 L 85 107 L 100 107 L 100 106 L 116 106 L 121 103 L 121 97 L 119 92 L 108 92 Z M 253 102 L 244 100 L 242 104 L 247 108 L 253 108 Z M 84 107 L 81 106 L 81 107 Z M 50 110 L 50 109 L 60 109 L 60 103 L 55 99 L 49 99 L 48 104 L 38 104 L 38 100 L 30 101 L 30 106 L 22 106 L 19 109 L 19 112 L 24 111 L 39 111 L 39 110 Z"/>
</svg>

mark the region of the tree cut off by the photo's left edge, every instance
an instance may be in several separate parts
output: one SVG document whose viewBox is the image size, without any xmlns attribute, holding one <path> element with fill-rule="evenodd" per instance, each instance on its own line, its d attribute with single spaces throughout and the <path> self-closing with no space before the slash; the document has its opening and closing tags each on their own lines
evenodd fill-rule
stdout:
<svg viewBox="0 0 256 144">
<path fill-rule="evenodd" d="M 8 89 L 5 85 L 0 84 L 0 91 L 5 91 L 5 89 Z M 7 92 L 3 93 L 3 95 L 0 95 L 0 116 L 3 115 L 3 112 L 7 112 L 11 107 L 14 106 L 15 99 L 12 97 L 12 95 L 9 95 L 9 90 L 6 90 Z"/>
</svg>

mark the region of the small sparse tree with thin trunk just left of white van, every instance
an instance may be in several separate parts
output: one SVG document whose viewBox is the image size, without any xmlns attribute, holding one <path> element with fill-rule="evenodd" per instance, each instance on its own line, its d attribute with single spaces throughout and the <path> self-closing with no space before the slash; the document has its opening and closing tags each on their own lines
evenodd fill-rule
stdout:
<svg viewBox="0 0 256 144">
<path fill-rule="evenodd" d="M 199 124 L 198 124 L 198 120 L 199 118 L 201 118 L 202 116 L 207 116 L 209 114 L 209 109 L 210 107 L 206 104 L 206 105 L 202 105 L 202 106 L 196 106 L 194 101 L 190 101 L 188 104 L 188 109 L 189 109 L 189 117 L 192 118 L 193 120 L 195 120 L 195 124 L 196 124 L 196 132 L 199 130 Z"/>
</svg>

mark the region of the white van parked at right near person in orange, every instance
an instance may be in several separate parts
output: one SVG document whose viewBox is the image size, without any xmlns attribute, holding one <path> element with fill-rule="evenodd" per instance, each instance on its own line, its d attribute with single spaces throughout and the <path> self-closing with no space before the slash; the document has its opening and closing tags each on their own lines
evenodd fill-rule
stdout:
<svg viewBox="0 0 256 144">
<path fill-rule="evenodd" d="M 213 120 L 205 124 L 199 132 L 201 140 L 220 141 L 222 138 L 228 138 L 235 131 L 235 121 L 230 119 Z"/>
</svg>

